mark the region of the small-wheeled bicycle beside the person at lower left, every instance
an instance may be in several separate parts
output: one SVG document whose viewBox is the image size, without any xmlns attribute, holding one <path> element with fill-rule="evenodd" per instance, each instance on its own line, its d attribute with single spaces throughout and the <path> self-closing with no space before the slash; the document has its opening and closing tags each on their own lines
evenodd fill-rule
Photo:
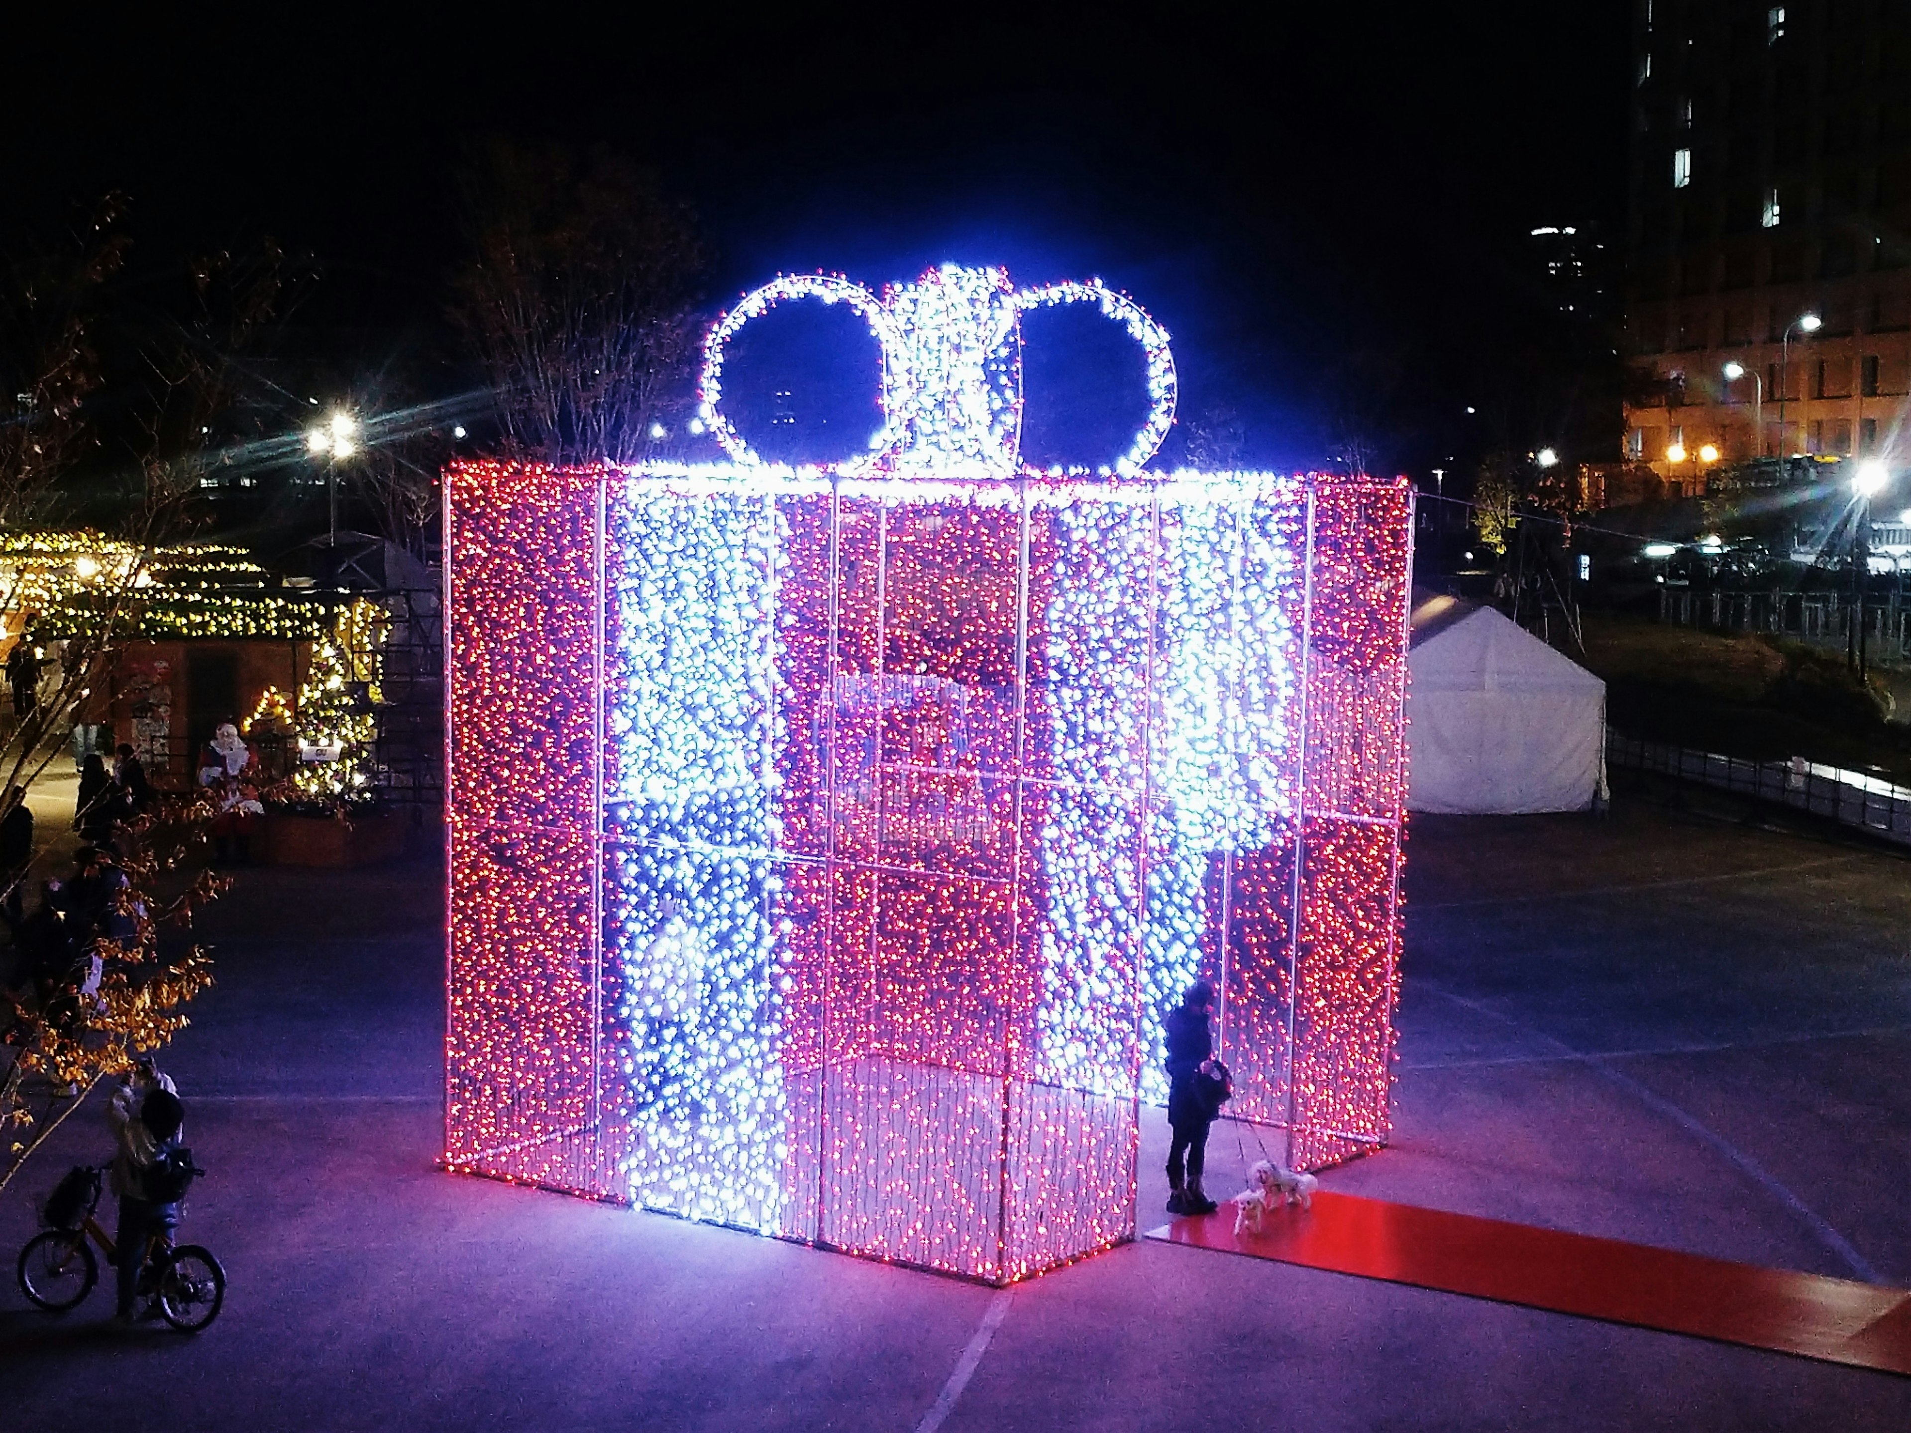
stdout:
<svg viewBox="0 0 1911 1433">
<path fill-rule="evenodd" d="M 107 1255 L 107 1263 L 118 1257 L 113 1238 L 94 1217 L 105 1167 L 82 1164 L 61 1179 L 40 1211 L 48 1229 L 19 1251 L 19 1290 L 48 1313 L 67 1313 L 92 1294 L 99 1282 L 94 1244 Z M 204 1169 L 193 1169 L 195 1177 L 203 1173 Z M 225 1271 L 210 1250 L 199 1244 L 174 1246 L 170 1234 L 157 1232 L 141 1250 L 138 1294 L 151 1299 L 161 1316 L 182 1334 L 197 1334 L 220 1316 Z"/>
</svg>

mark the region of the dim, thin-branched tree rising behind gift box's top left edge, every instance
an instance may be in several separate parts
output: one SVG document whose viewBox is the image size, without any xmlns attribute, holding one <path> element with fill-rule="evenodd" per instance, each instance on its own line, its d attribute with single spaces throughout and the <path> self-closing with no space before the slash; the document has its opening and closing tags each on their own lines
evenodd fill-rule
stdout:
<svg viewBox="0 0 1911 1433">
<path fill-rule="evenodd" d="M 493 141 L 464 174 L 451 317 L 508 457 L 629 462 L 690 397 L 703 246 L 657 176 L 608 151 Z"/>
</svg>

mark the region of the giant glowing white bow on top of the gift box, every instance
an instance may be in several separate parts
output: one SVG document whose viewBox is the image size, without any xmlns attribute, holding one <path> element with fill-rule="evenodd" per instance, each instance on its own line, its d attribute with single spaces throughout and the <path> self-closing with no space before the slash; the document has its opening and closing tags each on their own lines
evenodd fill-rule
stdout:
<svg viewBox="0 0 1911 1433">
<path fill-rule="evenodd" d="M 843 472 L 1005 478 L 1020 470 L 1024 310 L 1095 304 L 1141 344 L 1149 365 L 1149 417 L 1114 472 L 1137 472 L 1160 449 L 1175 420 L 1175 359 L 1162 329 L 1127 294 L 1101 279 L 1015 289 L 1007 269 L 944 264 L 877 298 L 827 273 L 780 275 L 743 296 L 703 342 L 701 415 L 724 451 L 743 464 L 762 459 L 722 415 L 724 348 L 751 319 L 778 304 L 818 298 L 847 304 L 883 352 L 883 426 L 870 451 Z"/>
</svg>

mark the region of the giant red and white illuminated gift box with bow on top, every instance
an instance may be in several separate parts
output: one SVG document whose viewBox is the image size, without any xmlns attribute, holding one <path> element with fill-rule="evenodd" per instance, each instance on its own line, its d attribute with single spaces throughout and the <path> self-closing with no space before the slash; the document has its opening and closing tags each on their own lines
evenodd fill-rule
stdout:
<svg viewBox="0 0 1911 1433">
<path fill-rule="evenodd" d="M 762 464 L 726 340 L 856 308 L 889 424 Z M 1118 472 L 1017 466 L 1017 313 L 1149 357 Z M 447 474 L 447 1162 L 1007 1282 L 1133 1236 L 1160 1018 L 1229 1112 L 1387 1133 L 1410 493 L 1143 470 L 1099 285 L 785 279 L 722 466 Z"/>
</svg>

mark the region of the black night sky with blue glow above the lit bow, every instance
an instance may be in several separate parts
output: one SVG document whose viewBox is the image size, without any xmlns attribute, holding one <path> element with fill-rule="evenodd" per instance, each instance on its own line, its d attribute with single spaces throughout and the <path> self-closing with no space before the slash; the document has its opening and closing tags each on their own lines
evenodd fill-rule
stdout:
<svg viewBox="0 0 1911 1433">
<path fill-rule="evenodd" d="M 1619 227 L 1621 0 L 793 10 L 13 29 L 0 203 L 122 187 L 149 262 L 269 231 L 317 256 L 308 315 L 375 367 L 440 342 L 472 136 L 606 143 L 698 206 L 713 308 L 780 267 L 1099 273 L 1175 334 L 1183 415 L 1231 405 L 1284 464 L 1378 386 L 1347 373 L 1393 374 L 1401 462 L 1468 441 L 1443 424 L 1506 380 L 1527 231 Z"/>
</svg>

